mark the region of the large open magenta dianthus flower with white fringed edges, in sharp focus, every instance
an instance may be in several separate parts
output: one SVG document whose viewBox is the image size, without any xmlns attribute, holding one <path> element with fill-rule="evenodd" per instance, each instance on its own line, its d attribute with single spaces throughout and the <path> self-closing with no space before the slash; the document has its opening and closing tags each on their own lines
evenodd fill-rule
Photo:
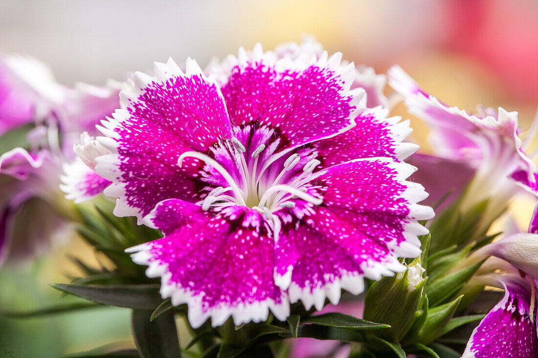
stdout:
<svg viewBox="0 0 538 358">
<path fill-rule="evenodd" d="M 95 170 L 117 216 L 164 233 L 128 252 L 161 277 L 163 298 L 188 305 L 193 327 L 270 310 L 284 320 L 299 300 L 319 310 L 419 255 L 417 220 L 433 210 L 405 181 L 409 122 L 365 110 L 341 54 L 256 46 L 209 77 L 192 59 L 185 73 L 169 60 L 154 74 L 136 73 L 126 109 L 103 121 L 97 140 L 112 153 Z"/>
</svg>

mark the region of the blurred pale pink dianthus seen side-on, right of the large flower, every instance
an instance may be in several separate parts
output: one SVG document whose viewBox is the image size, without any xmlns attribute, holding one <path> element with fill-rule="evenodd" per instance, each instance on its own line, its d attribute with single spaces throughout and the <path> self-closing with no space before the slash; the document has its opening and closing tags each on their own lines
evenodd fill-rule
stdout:
<svg viewBox="0 0 538 358">
<path fill-rule="evenodd" d="M 518 112 L 499 107 L 479 108 L 476 114 L 469 114 L 424 92 L 398 66 L 391 67 L 387 75 L 391 87 L 404 96 L 409 112 L 430 126 L 435 154 L 475 171 L 468 188 L 472 194 L 461 203 L 462 209 L 488 198 L 495 201 L 491 206 L 504 207 L 518 192 L 514 184 L 538 195 L 536 166 L 523 151 L 525 143 L 519 137 Z"/>
</svg>

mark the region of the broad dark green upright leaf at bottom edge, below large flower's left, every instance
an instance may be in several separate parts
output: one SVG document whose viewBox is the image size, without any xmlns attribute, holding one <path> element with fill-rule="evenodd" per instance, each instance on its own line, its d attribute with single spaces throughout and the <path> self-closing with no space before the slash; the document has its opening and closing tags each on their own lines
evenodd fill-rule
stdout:
<svg viewBox="0 0 538 358">
<path fill-rule="evenodd" d="M 151 311 L 133 310 L 134 343 L 143 358 L 181 358 L 174 312 L 168 311 L 150 321 Z"/>
</svg>

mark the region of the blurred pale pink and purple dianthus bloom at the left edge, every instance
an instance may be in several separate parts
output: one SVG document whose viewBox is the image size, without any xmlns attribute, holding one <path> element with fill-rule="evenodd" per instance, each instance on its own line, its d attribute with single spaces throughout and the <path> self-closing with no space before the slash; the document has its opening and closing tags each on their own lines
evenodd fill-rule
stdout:
<svg viewBox="0 0 538 358">
<path fill-rule="evenodd" d="M 98 119 L 117 108 L 118 92 L 115 82 L 68 88 L 36 59 L 0 56 L 0 264 L 44 253 L 65 228 L 62 164 L 73 159 L 74 138 L 96 134 Z"/>
</svg>

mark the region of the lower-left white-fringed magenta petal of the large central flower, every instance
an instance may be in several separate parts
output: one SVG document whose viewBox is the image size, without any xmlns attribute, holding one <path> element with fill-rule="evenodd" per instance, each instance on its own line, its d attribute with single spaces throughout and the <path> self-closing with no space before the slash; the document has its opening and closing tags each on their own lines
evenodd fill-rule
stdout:
<svg viewBox="0 0 538 358">
<path fill-rule="evenodd" d="M 178 209 L 176 204 L 172 210 Z M 178 211 L 158 214 L 173 218 Z M 264 321 L 269 310 L 285 320 L 289 303 L 274 284 L 273 239 L 263 228 L 245 227 L 223 214 L 212 216 L 199 210 L 195 215 L 204 218 L 189 221 L 163 239 L 129 249 L 137 252 L 132 255 L 134 262 L 150 266 L 149 277 L 162 278 L 162 297 L 171 297 L 173 305 L 187 303 L 193 327 L 209 317 L 213 326 L 230 316 L 236 325 Z"/>
</svg>

